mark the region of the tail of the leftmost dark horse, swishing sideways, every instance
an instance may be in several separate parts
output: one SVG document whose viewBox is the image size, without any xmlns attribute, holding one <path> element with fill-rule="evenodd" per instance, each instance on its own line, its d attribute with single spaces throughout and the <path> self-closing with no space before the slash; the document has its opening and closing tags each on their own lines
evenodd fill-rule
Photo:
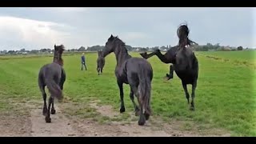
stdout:
<svg viewBox="0 0 256 144">
<path fill-rule="evenodd" d="M 62 90 L 54 81 L 54 78 L 46 78 L 46 86 L 49 89 L 51 96 L 57 98 L 58 100 L 62 100 Z"/>
</svg>

